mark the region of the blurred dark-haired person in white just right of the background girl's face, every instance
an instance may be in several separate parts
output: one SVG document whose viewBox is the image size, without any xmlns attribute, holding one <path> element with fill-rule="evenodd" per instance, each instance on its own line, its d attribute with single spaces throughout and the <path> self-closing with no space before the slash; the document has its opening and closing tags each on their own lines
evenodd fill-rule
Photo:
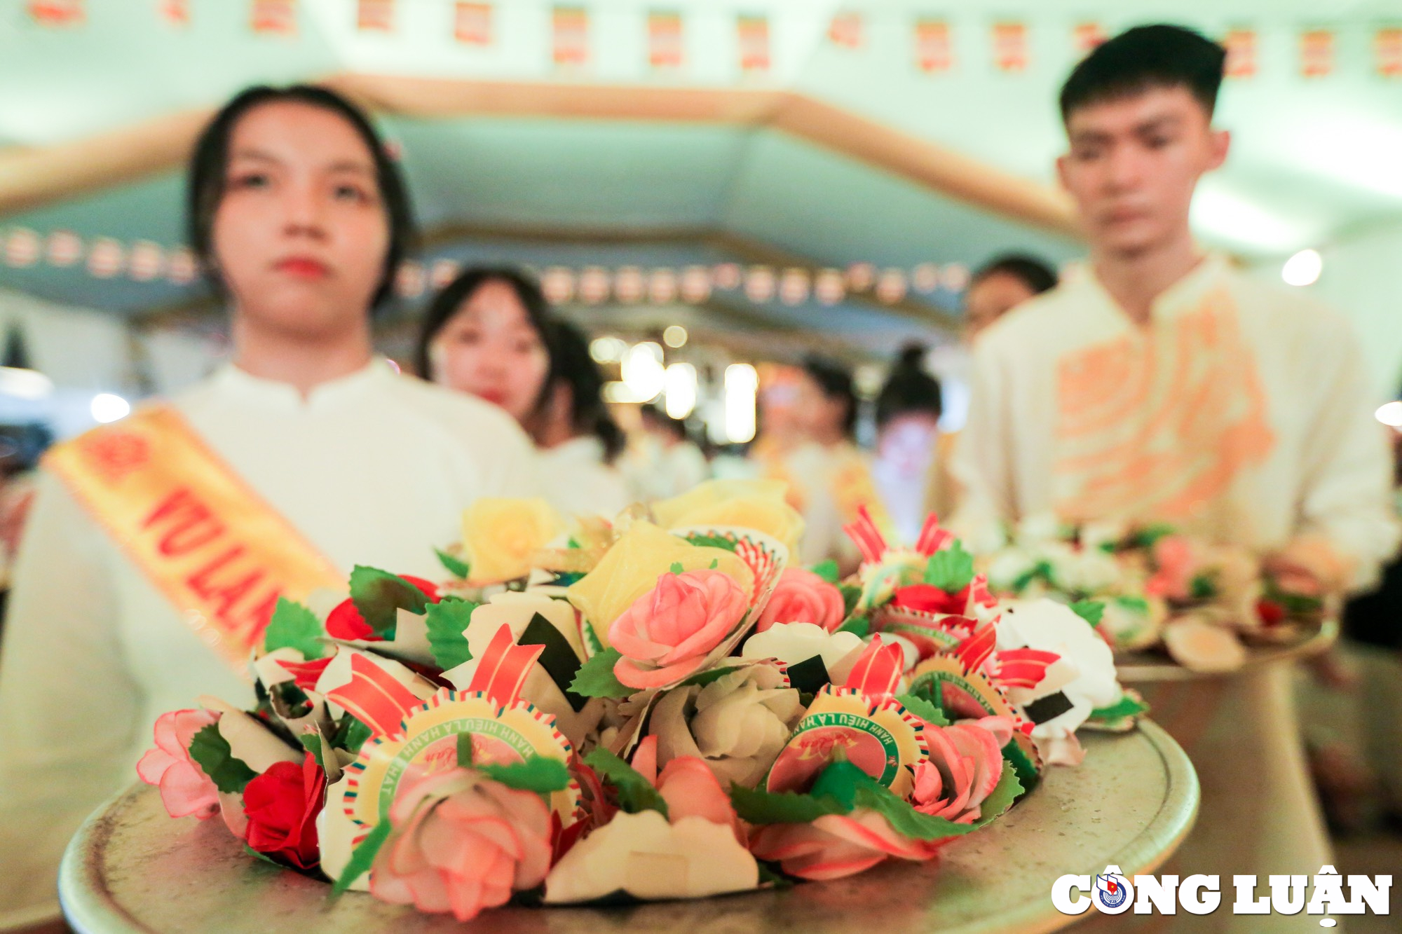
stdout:
<svg viewBox="0 0 1402 934">
<path fill-rule="evenodd" d="M 589 338 L 568 321 L 551 331 L 545 400 L 534 419 L 545 495 L 565 515 L 613 517 L 632 502 L 614 466 L 627 439 L 604 402 Z"/>
</svg>

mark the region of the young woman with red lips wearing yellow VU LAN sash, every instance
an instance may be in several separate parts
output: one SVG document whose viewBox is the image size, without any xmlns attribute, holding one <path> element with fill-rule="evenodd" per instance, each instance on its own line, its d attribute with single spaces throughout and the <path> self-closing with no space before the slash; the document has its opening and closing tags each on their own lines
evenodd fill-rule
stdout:
<svg viewBox="0 0 1402 934">
<path fill-rule="evenodd" d="M 252 700 L 279 595 L 355 564 L 435 576 L 461 509 L 536 491 L 512 419 L 372 352 L 412 222 L 353 105 L 244 91 L 195 146 L 188 209 L 233 359 L 60 445 L 38 481 L 0 655 L 0 927 L 57 913 L 63 846 L 135 778 L 160 712 Z"/>
</svg>

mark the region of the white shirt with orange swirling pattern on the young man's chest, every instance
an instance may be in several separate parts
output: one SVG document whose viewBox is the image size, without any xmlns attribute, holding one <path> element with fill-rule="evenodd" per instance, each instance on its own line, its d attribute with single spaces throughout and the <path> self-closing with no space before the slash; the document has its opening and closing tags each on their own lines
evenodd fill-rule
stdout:
<svg viewBox="0 0 1402 934">
<path fill-rule="evenodd" d="M 1391 461 L 1349 321 L 1209 257 L 1138 327 L 1088 268 L 990 327 L 958 524 L 1164 519 L 1269 551 L 1326 537 L 1366 583 L 1396 547 Z"/>
</svg>

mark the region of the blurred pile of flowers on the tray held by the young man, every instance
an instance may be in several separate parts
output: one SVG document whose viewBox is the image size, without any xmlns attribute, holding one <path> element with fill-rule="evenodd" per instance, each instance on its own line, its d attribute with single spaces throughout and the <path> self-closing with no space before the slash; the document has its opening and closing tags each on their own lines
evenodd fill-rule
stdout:
<svg viewBox="0 0 1402 934">
<path fill-rule="evenodd" d="M 1070 524 L 1030 516 L 980 557 L 1004 596 L 1096 602 L 1099 634 L 1119 652 L 1162 649 L 1203 673 L 1232 672 L 1249 645 L 1314 632 L 1346 583 L 1328 546 L 1300 540 L 1260 557 L 1171 524 Z"/>
</svg>

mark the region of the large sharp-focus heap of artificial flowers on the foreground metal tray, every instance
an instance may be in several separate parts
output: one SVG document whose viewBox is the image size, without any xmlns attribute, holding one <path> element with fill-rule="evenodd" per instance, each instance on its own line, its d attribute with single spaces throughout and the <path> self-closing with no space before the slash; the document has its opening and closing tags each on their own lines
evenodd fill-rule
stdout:
<svg viewBox="0 0 1402 934">
<path fill-rule="evenodd" d="M 934 519 L 904 548 L 864 515 L 845 581 L 788 565 L 778 482 L 463 524 L 450 579 L 279 602 L 254 710 L 163 715 L 139 774 L 171 816 L 461 920 L 701 898 L 930 860 L 1144 711 L 1082 616 L 1000 603 Z"/>
</svg>

